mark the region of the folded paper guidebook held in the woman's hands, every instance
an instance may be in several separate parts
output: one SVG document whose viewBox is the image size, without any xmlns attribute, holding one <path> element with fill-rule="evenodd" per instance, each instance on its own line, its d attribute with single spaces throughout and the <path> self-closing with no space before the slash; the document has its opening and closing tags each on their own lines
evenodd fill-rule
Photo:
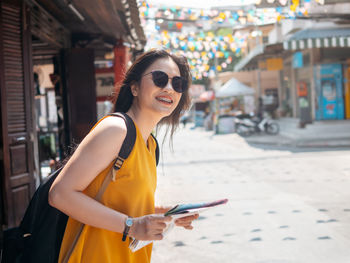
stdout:
<svg viewBox="0 0 350 263">
<path fill-rule="evenodd" d="M 167 228 L 163 231 L 163 235 L 166 235 L 174 227 L 174 224 L 175 224 L 174 222 L 176 219 L 185 217 L 185 216 L 194 215 L 194 214 L 199 214 L 207 209 L 210 209 L 211 207 L 226 204 L 227 201 L 228 199 L 221 199 L 221 200 L 217 200 L 209 203 L 181 204 L 181 205 L 174 206 L 169 211 L 164 213 L 164 216 L 171 216 L 172 220 L 168 224 Z M 133 239 L 129 245 L 129 248 L 132 252 L 135 252 L 152 242 L 153 241 L 149 241 L 149 240 L 143 241 L 143 240 Z"/>
</svg>

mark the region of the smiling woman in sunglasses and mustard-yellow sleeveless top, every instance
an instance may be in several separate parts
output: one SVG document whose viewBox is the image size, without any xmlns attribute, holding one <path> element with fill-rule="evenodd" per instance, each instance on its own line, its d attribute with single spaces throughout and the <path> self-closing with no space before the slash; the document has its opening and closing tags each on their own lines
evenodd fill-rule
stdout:
<svg viewBox="0 0 350 263">
<path fill-rule="evenodd" d="M 164 50 L 151 50 L 130 67 L 122 83 L 114 111 L 126 112 L 135 123 L 134 148 L 115 182 L 107 187 L 101 203 L 95 196 L 126 136 L 121 118 L 106 117 L 84 138 L 53 183 L 49 202 L 69 215 L 59 262 L 63 262 L 76 235 L 83 232 L 69 262 L 150 262 L 152 245 L 135 253 L 122 241 L 123 232 L 138 240 L 161 240 L 170 217 L 167 208 L 154 207 L 156 142 L 150 136 L 158 124 L 174 133 L 180 112 L 189 105 L 191 75 L 187 61 Z M 176 221 L 192 229 L 198 215 Z M 128 233 L 126 233 L 128 232 Z"/>
</svg>

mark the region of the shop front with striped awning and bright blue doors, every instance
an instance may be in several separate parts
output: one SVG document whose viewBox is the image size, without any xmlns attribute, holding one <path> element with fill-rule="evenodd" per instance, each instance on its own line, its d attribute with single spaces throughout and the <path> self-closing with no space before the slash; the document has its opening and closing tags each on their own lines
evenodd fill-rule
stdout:
<svg viewBox="0 0 350 263">
<path fill-rule="evenodd" d="M 349 36 L 349 27 L 307 28 L 284 42 L 293 51 L 294 111 L 301 122 L 350 118 Z"/>
</svg>

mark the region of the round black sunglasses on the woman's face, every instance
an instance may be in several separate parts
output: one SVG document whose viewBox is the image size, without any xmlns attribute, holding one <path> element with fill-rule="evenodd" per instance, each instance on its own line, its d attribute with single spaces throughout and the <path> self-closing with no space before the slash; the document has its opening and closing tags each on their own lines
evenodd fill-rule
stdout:
<svg viewBox="0 0 350 263">
<path fill-rule="evenodd" d="M 183 93 L 187 89 L 186 80 L 182 77 L 176 76 L 169 78 L 168 74 L 160 70 L 151 71 L 144 76 L 149 74 L 152 74 L 153 83 L 159 88 L 165 88 L 165 86 L 168 84 L 169 79 L 171 79 L 171 85 L 176 92 Z"/>
</svg>

